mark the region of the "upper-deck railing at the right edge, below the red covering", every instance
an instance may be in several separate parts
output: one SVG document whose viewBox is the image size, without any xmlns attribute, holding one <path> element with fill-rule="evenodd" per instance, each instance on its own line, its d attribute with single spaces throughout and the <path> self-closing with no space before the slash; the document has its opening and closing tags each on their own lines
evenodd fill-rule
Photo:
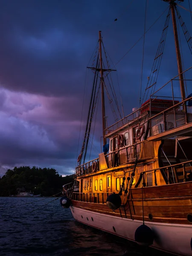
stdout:
<svg viewBox="0 0 192 256">
<path fill-rule="evenodd" d="M 188 101 L 192 101 L 192 97 L 189 97 L 182 102 L 179 102 L 150 117 L 150 136 L 160 134 L 164 131 L 169 131 L 173 128 L 178 128 L 192 122 L 192 107 L 186 105 L 186 102 Z"/>
</svg>

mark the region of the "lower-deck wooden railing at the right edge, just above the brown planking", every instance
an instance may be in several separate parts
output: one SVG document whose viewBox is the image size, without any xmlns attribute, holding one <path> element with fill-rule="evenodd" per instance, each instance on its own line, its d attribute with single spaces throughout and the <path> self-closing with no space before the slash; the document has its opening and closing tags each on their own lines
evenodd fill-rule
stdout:
<svg viewBox="0 0 192 256">
<path fill-rule="evenodd" d="M 187 181 L 192 181 L 192 160 L 183 162 L 183 163 L 176 163 L 169 166 L 163 166 L 156 169 L 150 169 L 140 172 L 140 177 L 137 180 L 137 183 L 135 184 L 135 188 L 142 186 L 148 186 L 148 179 L 147 174 L 152 173 L 153 174 L 153 186 L 158 186 L 157 184 L 157 177 L 156 172 L 160 171 L 163 175 L 163 178 L 166 182 L 166 184 L 172 184 L 172 183 L 182 183 Z M 159 184 L 160 185 L 160 184 Z"/>
</svg>

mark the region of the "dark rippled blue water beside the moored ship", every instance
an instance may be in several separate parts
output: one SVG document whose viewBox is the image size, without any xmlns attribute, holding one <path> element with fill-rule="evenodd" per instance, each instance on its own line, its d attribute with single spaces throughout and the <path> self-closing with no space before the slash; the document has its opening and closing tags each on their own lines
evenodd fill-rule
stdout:
<svg viewBox="0 0 192 256">
<path fill-rule="evenodd" d="M 83 225 L 54 198 L 0 198 L 0 256 L 168 256 Z"/>
</svg>

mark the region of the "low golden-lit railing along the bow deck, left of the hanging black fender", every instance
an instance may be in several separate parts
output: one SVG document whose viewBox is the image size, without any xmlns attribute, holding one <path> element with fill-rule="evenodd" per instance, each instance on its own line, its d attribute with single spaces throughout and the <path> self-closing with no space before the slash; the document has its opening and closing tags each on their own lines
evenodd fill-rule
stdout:
<svg viewBox="0 0 192 256">
<path fill-rule="evenodd" d="M 87 202 L 87 203 L 96 203 L 96 204 L 105 204 L 108 195 L 113 194 L 112 192 L 73 192 L 71 199 L 75 201 Z"/>
</svg>

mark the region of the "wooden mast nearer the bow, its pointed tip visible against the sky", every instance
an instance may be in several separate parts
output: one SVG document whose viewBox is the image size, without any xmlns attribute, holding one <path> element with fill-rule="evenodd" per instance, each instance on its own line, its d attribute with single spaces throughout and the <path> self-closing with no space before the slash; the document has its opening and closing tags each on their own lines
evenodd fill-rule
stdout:
<svg viewBox="0 0 192 256">
<path fill-rule="evenodd" d="M 105 129 L 106 129 L 106 121 L 105 121 L 105 97 L 104 97 L 104 81 L 103 81 L 103 68 L 102 68 L 102 38 L 101 31 L 99 31 L 99 55 L 100 55 L 100 74 L 101 74 L 101 93 L 102 93 L 102 124 L 103 124 L 103 145 L 106 144 L 105 138 Z"/>
</svg>

